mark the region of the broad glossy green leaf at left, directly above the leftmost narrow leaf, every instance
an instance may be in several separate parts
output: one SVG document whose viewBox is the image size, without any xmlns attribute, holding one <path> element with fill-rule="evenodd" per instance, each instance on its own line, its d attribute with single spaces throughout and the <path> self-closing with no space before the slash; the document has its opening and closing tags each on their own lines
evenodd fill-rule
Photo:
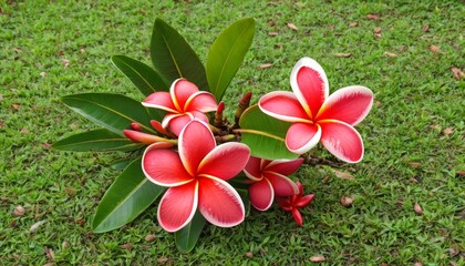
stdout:
<svg viewBox="0 0 465 266">
<path fill-rule="evenodd" d="M 131 98 L 111 93 L 82 93 L 63 96 L 61 101 L 73 111 L 116 134 L 124 135 L 123 130 L 132 122 L 137 122 L 146 131 L 155 133 L 147 110 Z"/>
</svg>

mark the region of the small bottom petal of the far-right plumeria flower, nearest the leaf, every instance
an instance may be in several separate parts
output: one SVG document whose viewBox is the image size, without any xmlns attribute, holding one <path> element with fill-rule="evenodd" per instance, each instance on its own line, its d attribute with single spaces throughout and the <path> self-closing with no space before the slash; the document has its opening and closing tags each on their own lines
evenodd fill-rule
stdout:
<svg viewBox="0 0 465 266">
<path fill-rule="evenodd" d="M 289 151 L 303 154 L 318 144 L 321 129 L 318 124 L 294 123 L 286 134 L 286 146 Z"/>
</svg>

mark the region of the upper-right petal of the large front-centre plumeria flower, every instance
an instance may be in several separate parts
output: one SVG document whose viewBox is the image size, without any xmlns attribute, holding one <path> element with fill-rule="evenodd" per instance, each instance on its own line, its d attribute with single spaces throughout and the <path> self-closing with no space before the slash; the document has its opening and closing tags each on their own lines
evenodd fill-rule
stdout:
<svg viewBox="0 0 465 266">
<path fill-rule="evenodd" d="M 198 165 L 198 175 L 213 175 L 230 180 L 246 166 L 250 149 L 242 143 L 228 142 L 216 146 Z"/>
</svg>

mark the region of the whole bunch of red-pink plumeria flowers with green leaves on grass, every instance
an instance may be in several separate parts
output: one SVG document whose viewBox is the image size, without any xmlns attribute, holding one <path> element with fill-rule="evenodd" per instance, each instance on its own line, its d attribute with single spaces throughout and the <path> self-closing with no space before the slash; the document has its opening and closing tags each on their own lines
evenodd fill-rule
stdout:
<svg viewBox="0 0 465 266">
<path fill-rule="evenodd" d="M 250 106 L 251 93 L 225 117 L 221 99 L 249 50 L 254 19 L 224 30 L 211 44 L 206 64 L 186 40 L 161 19 L 151 40 L 153 68 L 125 55 L 113 63 L 144 94 L 141 103 L 112 93 L 81 93 L 61 101 L 102 129 L 53 144 L 63 151 L 124 152 L 124 171 L 103 196 L 93 218 L 96 233 L 118 228 L 158 197 L 159 226 L 175 233 L 182 252 L 194 248 L 208 223 L 242 223 L 250 205 L 267 211 L 273 202 L 291 212 L 313 195 L 288 176 L 303 154 L 321 143 L 348 163 L 360 162 L 363 143 L 353 127 L 370 112 L 371 90 L 352 85 L 329 95 L 321 65 L 299 60 L 290 75 L 291 91 L 275 91 Z"/>
</svg>

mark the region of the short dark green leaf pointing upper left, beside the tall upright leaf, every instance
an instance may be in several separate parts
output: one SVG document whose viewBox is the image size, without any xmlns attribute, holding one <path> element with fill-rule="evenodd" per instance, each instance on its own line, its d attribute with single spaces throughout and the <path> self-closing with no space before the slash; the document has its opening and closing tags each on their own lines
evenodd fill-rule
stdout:
<svg viewBox="0 0 465 266">
<path fill-rule="evenodd" d="M 126 75 L 145 95 L 156 91 L 168 91 L 169 84 L 145 63 L 125 55 L 113 55 L 112 62 Z"/>
</svg>

